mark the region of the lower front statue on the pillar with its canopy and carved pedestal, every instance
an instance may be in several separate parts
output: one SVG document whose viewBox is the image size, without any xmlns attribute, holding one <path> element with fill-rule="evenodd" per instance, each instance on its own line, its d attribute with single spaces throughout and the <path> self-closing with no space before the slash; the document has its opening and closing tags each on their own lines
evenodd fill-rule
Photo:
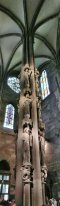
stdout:
<svg viewBox="0 0 60 206">
<path fill-rule="evenodd" d="M 24 184 L 31 183 L 31 169 L 32 164 L 30 161 L 30 147 L 32 146 L 32 121 L 30 119 L 29 114 L 25 115 L 23 119 L 23 135 L 22 135 L 22 142 L 23 142 L 23 182 Z"/>
</svg>

